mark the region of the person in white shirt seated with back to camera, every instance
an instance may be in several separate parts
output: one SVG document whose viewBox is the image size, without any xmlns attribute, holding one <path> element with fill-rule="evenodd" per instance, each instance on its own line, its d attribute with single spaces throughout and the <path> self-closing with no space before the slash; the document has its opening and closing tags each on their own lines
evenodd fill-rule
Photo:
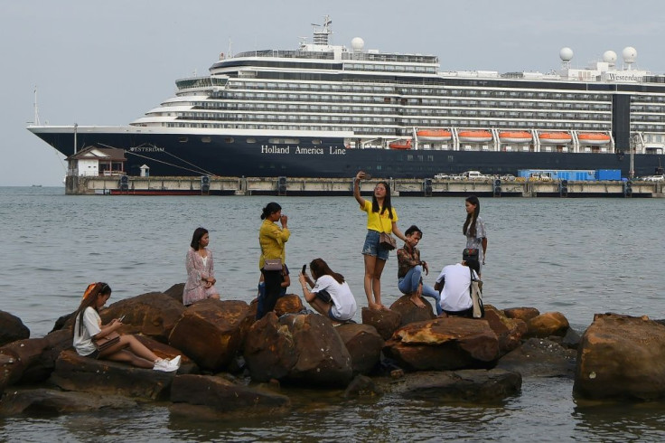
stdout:
<svg viewBox="0 0 665 443">
<path fill-rule="evenodd" d="M 441 308 L 445 314 L 473 318 L 471 272 L 474 278 L 478 278 L 479 269 L 477 259 L 467 259 L 441 270 L 434 288 L 441 293 Z"/>
</svg>

